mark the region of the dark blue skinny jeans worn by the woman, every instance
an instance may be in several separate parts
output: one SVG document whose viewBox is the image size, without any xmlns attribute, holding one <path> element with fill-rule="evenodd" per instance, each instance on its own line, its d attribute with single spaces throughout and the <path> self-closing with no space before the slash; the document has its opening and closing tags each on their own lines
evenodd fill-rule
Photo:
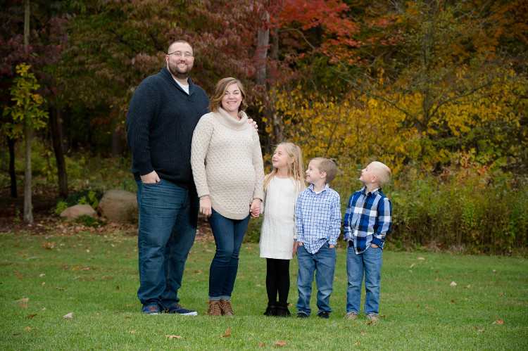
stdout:
<svg viewBox="0 0 528 351">
<path fill-rule="evenodd" d="M 239 268 L 239 253 L 249 222 L 244 219 L 229 219 L 213 208 L 209 224 L 215 237 L 216 253 L 209 270 L 209 298 L 230 300 L 234 279 Z"/>
</svg>

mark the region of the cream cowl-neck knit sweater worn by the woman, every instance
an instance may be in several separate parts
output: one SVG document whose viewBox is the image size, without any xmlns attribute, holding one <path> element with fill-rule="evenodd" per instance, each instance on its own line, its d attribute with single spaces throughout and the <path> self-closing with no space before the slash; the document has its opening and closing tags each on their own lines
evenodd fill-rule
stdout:
<svg viewBox="0 0 528 351">
<path fill-rule="evenodd" d="M 198 196 L 208 195 L 223 217 L 244 219 L 253 198 L 264 197 L 264 165 L 258 133 L 246 113 L 203 115 L 194 129 L 191 167 Z"/>
</svg>

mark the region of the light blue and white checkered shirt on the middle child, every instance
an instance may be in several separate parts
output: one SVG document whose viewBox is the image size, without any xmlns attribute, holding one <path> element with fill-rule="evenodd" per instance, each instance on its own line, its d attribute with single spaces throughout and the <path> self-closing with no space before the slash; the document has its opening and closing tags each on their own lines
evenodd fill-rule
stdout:
<svg viewBox="0 0 528 351">
<path fill-rule="evenodd" d="M 318 253 L 326 242 L 336 245 L 341 229 L 339 193 L 328 184 L 320 193 L 315 193 L 313 184 L 310 185 L 297 198 L 295 219 L 297 241 L 304 244 L 308 253 Z"/>
</svg>

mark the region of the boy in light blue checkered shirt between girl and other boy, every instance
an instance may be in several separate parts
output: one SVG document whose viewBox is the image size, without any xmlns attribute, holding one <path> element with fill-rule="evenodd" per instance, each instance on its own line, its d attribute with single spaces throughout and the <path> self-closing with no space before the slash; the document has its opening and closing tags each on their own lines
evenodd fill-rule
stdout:
<svg viewBox="0 0 528 351">
<path fill-rule="evenodd" d="M 306 170 L 311 185 L 301 192 L 295 208 L 297 231 L 297 317 L 310 316 L 313 274 L 317 284 L 317 306 L 320 318 L 329 318 L 332 307 L 330 294 L 334 285 L 336 243 L 341 229 L 339 193 L 330 189 L 337 167 L 332 160 L 313 158 Z"/>
</svg>

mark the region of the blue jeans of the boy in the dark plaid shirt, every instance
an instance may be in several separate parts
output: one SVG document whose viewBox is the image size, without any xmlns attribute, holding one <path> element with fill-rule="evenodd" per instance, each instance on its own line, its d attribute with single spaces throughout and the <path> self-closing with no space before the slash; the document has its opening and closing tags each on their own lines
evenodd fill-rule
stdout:
<svg viewBox="0 0 528 351">
<path fill-rule="evenodd" d="M 382 249 L 372 245 L 360 255 L 356 255 L 353 245 L 346 253 L 346 313 L 359 314 L 361 302 L 361 283 L 365 275 L 365 314 L 379 313 L 379 281 L 382 279 Z"/>
</svg>

